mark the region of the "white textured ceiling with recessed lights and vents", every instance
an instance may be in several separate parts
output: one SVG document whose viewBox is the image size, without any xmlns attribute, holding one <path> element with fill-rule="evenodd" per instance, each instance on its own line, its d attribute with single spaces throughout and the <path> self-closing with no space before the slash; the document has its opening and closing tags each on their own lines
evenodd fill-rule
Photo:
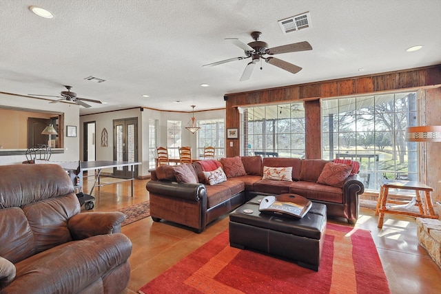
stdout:
<svg viewBox="0 0 441 294">
<path fill-rule="evenodd" d="M 54 18 L 37 17 L 32 5 Z M 0 8 L 0 92 L 58 95 L 71 85 L 107 103 L 80 114 L 216 109 L 228 93 L 441 63 L 440 0 L 1 0 Z M 283 34 L 277 21 L 303 12 L 311 28 Z M 263 63 L 239 81 L 249 59 L 202 66 L 244 56 L 224 39 L 249 43 L 256 30 L 270 48 L 308 41 L 311 51 L 276 55 L 303 70 Z M 405 51 L 413 45 L 424 48 Z"/>
</svg>

